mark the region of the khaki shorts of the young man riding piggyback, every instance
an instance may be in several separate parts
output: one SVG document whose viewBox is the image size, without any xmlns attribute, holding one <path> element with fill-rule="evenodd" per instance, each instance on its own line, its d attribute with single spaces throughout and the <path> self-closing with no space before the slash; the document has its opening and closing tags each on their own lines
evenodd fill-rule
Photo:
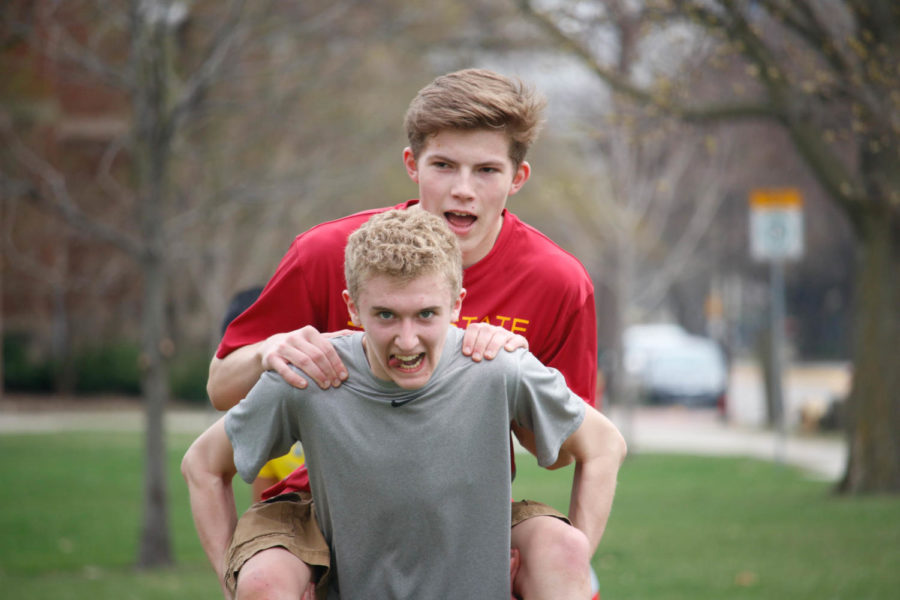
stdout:
<svg viewBox="0 0 900 600">
<path fill-rule="evenodd" d="M 512 503 L 515 527 L 533 517 L 550 516 L 571 525 L 568 517 L 551 506 L 531 500 Z M 225 584 L 232 592 L 237 575 L 253 555 L 270 548 L 284 548 L 312 567 L 318 597 L 328 588 L 331 553 L 316 521 L 316 508 L 307 492 L 282 494 L 257 502 L 238 520 L 225 556 Z"/>
</svg>

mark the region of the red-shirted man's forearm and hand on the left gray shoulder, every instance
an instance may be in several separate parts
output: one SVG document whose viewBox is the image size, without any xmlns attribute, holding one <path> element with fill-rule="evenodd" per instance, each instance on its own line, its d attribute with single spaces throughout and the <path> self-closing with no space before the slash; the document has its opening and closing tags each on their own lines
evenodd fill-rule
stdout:
<svg viewBox="0 0 900 600">
<path fill-rule="evenodd" d="M 347 368 L 329 338 L 345 333 L 323 334 L 307 325 L 238 348 L 225 358 L 213 357 L 206 382 L 210 402 L 219 410 L 228 410 L 247 395 L 265 371 L 277 371 L 289 384 L 305 388 L 306 379 L 288 365 L 303 369 L 322 389 L 339 386 L 347 378 Z"/>
</svg>

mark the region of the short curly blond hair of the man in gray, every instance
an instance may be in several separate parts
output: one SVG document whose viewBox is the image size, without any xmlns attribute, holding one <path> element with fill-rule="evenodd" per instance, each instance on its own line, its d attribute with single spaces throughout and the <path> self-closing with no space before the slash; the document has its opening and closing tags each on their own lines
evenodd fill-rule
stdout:
<svg viewBox="0 0 900 600">
<path fill-rule="evenodd" d="M 373 275 L 404 282 L 438 273 L 450 285 L 451 300 L 462 289 L 462 253 L 444 220 L 421 208 L 378 213 L 347 238 L 344 277 L 359 301 L 361 287 Z"/>
</svg>

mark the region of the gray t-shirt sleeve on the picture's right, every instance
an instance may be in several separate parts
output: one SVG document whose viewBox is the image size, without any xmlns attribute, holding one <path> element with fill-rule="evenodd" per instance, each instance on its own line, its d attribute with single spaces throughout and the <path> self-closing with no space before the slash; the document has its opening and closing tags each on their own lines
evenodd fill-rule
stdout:
<svg viewBox="0 0 900 600">
<path fill-rule="evenodd" d="M 510 416 L 534 433 L 538 464 L 549 467 L 556 462 L 563 443 L 581 426 L 585 403 L 556 369 L 545 367 L 524 350 L 514 356 L 516 373 L 508 380 Z"/>
</svg>

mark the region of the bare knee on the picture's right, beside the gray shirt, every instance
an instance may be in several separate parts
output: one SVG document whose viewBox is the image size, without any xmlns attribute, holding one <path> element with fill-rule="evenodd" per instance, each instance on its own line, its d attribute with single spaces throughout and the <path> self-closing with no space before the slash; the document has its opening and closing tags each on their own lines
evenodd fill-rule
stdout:
<svg viewBox="0 0 900 600">
<path fill-rule="evenodd" d="M 588 600 L 591 597 L 587 537 L 555 517 L 522 521 L 512 529 L 519 571 L 513 592 L 523 600 Z"/>
</svg>

